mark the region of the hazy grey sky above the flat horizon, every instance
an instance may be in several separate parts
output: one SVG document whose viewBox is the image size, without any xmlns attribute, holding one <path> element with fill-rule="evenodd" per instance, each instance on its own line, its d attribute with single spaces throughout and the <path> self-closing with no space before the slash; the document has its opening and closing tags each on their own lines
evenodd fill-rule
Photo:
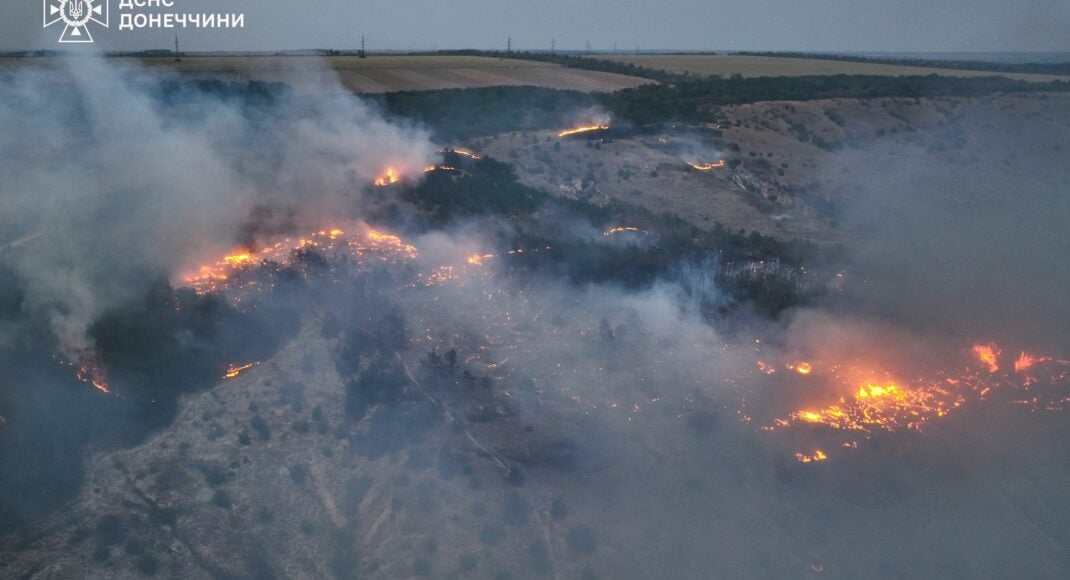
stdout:
<svg viewBox="0 0 1070 580">
<path fill-rule="evenodd" d="M 105 49 L 169 47 L 174 31 L 93 30 Z M 0 49 L 56 48 L 42 0 L 4 0 Z M 183 49 L 641 48 L 1070 51 L 1067 0 L 174 0 L 245 13 L 244 30 L 180 30 Z M 70 46 L 70 45 L 68 45 Z"/>
</svg>

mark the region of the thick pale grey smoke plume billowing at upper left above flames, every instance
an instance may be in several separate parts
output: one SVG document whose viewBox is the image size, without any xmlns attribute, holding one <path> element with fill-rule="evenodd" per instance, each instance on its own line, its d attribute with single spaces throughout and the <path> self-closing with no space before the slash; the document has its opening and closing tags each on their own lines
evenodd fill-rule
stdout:
<svg viewBox="0 0 1070 580">
<path fill-rule="evenodd" d="M 416 171 L 432 159 L 425 132 L 340 90 L 251 115 L 180 91 L 164 110 L 167 77 L 94 58 L 64 64 L 16 72 L 0 93 L 0 239 L 41 234 L 0 259 L 68 351 L 90 347 L 88 325 L 154 276 L 248 242 L 249 227 L 357 218 L 339 215 L 342 201 L 384 167 Z"/>
</svg>

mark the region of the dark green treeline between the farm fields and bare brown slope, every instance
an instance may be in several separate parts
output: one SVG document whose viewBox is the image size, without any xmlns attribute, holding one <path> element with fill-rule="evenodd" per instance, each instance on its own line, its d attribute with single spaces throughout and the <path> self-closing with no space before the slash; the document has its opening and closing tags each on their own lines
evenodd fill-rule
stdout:
<svg viewBox="0 0 1070 580">
<path fill-rule="evenodd" d="M 534 87 L 493 87 L 400 92 L 368 98 L 380 103 L 389 115 L 426 124 L 441 138 L 463 139 L 569 126 L 577 121 L 578 112 L 592 107 L 609 112 L 617 125 L 647 127 L 673 122 L 712 122 L 719 106 L 767 101 L 920 98 L 1068 91 L 1070 82 L 1063 80 L 1027 82 L 1002 76 L 960 78 L 933 74 L 908 77 L 676 77 L 672 82 L 599 94 Z"/>
</svg>

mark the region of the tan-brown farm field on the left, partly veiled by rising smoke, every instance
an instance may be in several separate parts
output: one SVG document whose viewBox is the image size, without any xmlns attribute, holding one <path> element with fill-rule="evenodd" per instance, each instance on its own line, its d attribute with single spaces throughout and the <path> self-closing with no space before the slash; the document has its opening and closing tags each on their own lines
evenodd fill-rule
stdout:
<svg viewBox="0 0 1070 580">
<path fill-rule="evenodd" d="M 116 58 L 150 67 L 175 68 L 196 78 L 232 81 L 281 81 L 302 92 L 342 87 L 355 93 L 386 93 L 435 89 L 532 86 L 584 92 L 615 91 L 649 80 L 552 63 L 463 56 L 194 56 L 174 62 L 171 57 Z M 0 59 L 0 70 L 45 59 Z"/>
</svg>

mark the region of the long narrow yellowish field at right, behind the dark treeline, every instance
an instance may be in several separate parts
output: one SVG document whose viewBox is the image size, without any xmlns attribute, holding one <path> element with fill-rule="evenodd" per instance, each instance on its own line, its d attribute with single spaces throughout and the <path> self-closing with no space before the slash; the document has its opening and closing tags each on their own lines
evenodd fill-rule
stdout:
<svg viewBox="0 0 1070 580">
<path fill-rule="evenodd" d="M 863 62 L 845 62 L 824 59 L 804 59 L 791 57 L 753 57 L 743 55 L 633 55 L 633 56 L 599 56 L 601 60 L 635 64 L 647 68 L 669 71 L 671 73 L 688 73 L 700 76 L 732 76 L 744 77 L 784 77 L 808 75 L 878 75 L 878 76 L 913 76 L 913 75 L 945 75 L 954 77 L 1004 76 L 1017 80 L 1042 82 L 1067 79 L 1055 75 L 1037 75 L 1022 73 L 994 73 L 987 71 L 960 71 L 951 68 L 935 68 L 929 66 L 906 66 L 898 64 L 878 64 Z"/>
</svg>

